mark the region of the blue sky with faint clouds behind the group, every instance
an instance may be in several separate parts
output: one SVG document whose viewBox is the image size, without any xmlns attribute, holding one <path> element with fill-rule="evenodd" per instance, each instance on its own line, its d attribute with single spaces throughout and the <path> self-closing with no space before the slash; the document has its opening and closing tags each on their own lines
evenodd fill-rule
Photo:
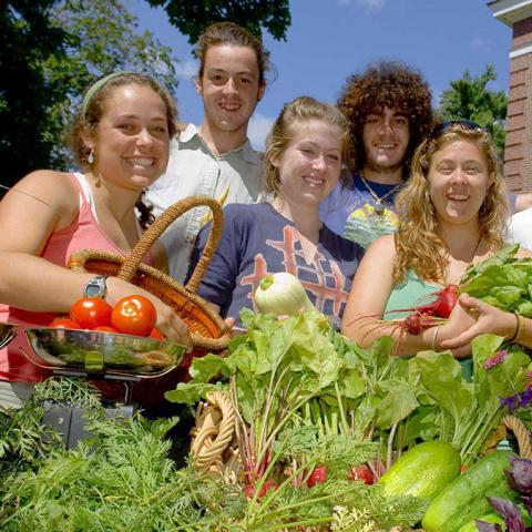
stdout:
<svg viewBox="0 0 532 532">
<path fill-rule="evenodd" d="M 166 11 L 144 0 L 129 6 L 139 29 L 150 30 L 176 58 L 180 121 L 200 124 L 203 105 L 194 89 L 197 62 L 187 37 L 172 27 Z M 336 103 L 347 76 L 375 60 L 400 60 L 422 72 L 433 104 L 444 89 L 469 70 L 481 74 L 492 64 L 492 90 L 508 93 L 512 30 L 495 19 L 485 0 L 290 0 L 286 41 L 263 33 L 276 66 L 257 105 L 248 135 L 256 149 L 283 105 L 307 94 Z"/>
</svg>

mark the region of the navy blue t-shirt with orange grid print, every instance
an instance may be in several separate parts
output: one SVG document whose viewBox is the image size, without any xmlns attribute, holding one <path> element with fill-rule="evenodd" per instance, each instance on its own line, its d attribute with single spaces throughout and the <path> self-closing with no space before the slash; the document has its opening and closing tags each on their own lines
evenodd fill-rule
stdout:
<svg viewBox="0 0 532 532">
<path fill-rule="evenodd" d="M 211 224 L 198 235 L 191 259 L 197 264 Z M 239 311 L 254 307 L 253 294 L 267 274 L 287 272 L 299 278 L 313 305 L 339 328 L 351 280 L 364 249 L 326 225 L 308 264 L 293 222 L 269 203 L 232 204 L 224 208 L 224 231 L 198 294 L 221 307 L 221 315 L 239 323 Z"/>
</svg>

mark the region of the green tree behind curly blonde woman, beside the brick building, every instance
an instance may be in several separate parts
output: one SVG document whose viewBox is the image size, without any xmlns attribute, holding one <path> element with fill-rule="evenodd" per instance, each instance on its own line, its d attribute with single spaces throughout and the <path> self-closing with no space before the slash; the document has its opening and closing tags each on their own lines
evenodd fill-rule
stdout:
<svg viewBox="0 0 532 532">
<path fill-rule="evenodd" d="M 451 81 L 451 89 L 441 94 L 439 113 L 442 120 L 466 119 L 477 122 L 490 132 L 502 156 L 508 98 L 504 91 L 487 88 L 488 83 L 494 80 L 497 73 L 490 64 L 475 78 L 471 78 L 467 70 L 462 79 Z"/>
</svg>

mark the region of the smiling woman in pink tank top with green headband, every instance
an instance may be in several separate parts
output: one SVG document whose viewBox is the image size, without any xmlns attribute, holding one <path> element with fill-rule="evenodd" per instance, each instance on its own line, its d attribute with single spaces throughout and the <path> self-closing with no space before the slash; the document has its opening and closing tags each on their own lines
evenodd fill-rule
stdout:
<svg viewBox="0 0 532 532">
<path fill-rule="evenodd" d="M 32 172 L 0 202 L 0 323 L 45 326 L 55 314 L 68 314 L 94 277 L 65 267 L 72 252 L 133 248 L 140 227 L 151 222 L 143 190 L 166 167 L 175 123 L 172 96 L 143 74 L 115 72 L 88 90 L 71 134 L 84 173 Z M 143 293 L 117 277 L 106 285 L 111 305 Z M 157 328 L 190 346 L 178 316 L 144 295 L 156 306 Z M 48 376 L 21 355 L 24 345 L 20 327 L 0 350 L 0 380 L 35 382 Z"/>
</svg>

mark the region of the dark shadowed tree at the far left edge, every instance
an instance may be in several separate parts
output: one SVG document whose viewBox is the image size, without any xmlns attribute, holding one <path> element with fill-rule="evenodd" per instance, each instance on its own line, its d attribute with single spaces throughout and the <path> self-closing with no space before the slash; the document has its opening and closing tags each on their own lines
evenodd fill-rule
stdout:
<svg viewBox="0 0 532 532">
<path fill-rule="evenodd" d="M 55 0 L 2 2 L 0 8 L 0 158 L 3 185 L 47 166 L 54 145 L 48 109 L 63 99 L 43 63 L 65 57 L 65 32 L 52 24 Z"/>
</svg>

